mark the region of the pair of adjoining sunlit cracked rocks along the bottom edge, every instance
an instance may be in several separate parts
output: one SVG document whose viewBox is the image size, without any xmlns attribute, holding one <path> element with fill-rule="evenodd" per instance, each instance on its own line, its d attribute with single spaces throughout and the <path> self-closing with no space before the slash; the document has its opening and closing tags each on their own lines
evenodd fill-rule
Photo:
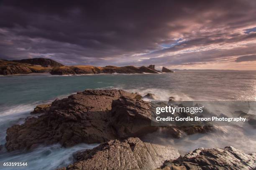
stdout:
<svg viewBox="0 0 256 170">
<path fill-rule="evenodd" d="M 110 140 L 78 152 L 76 162 L 59 170 L 253 170 L 256 154 L 233 147 L 200 148 L 184 156 L 170 146 L 143 143 L 139 138 Z"/>
</svg>

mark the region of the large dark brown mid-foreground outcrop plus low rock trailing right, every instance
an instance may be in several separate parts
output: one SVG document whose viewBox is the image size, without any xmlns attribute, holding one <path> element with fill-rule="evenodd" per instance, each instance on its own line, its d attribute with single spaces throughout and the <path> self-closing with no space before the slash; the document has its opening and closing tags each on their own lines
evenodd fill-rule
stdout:
<svg viewBox="0 0 256 170">
<path fill-rule="evenodd" d="M 150 102 L 135 99 L 138 94 L 123 90 L 85 90 L 52 102 L 38 117 L 7 129 L 7 150 L 33 149 L 60 143 L 102 143 L 113 139 L 143 136 L 159 129 L 151 126 Z M 192 129 L 190 129 L 192 128 Z M 205 132 L 202 127 L 166 126 L 165 132 L 179 138 L 183 133 Z"/>
</svg>

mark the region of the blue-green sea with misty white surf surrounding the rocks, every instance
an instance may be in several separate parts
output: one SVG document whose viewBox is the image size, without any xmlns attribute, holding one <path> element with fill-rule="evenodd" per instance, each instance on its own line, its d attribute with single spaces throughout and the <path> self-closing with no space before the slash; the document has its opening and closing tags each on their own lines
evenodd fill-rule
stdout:
<svg viewBox="0 0 256 170">
<path fill-rule="evenodd" d="M 0 145 L 5 144 L 6 130 L 22 124 L 36 105 L 49 103 L 85 89 L 120 89 L 152 93 L 155 100 L 255 101 L 256 71 L 179 70 L 161 74 L 49 75 L 28 74 L 0 76 Z M 221 132 L 171 138 L 161 132 L 146 135 L 143 140 L 172 145 L 181 154 L 197 148 L 233 146 L 245 153 L 256 152 L 256 128 L 221 126 Z M 153 138 L 154 137 L 154 138 Z M 4 162 L 27 162 L 26 170 L 54 170 L 72 163 L 73 154 L 98 144 L 82 143 L 71 148 L 59 144 L 41 146 L 32 151 L 0 153 L 0 169 Z"/>
</svg>

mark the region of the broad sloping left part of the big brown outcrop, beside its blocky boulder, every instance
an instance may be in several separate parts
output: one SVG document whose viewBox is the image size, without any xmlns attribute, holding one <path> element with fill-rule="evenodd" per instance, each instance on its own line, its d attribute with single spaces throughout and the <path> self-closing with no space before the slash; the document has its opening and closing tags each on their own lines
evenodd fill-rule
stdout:
<svg viewBox="0 0 256 170">
<path fill-rule="evenodd" d="M 49 111 L 7 130 L 7 150 L 31 149 L 40 144 L 101 143 L 118 138 L 109 125 L 112 101 L 137 94 L 123 90 L 85 90 L 52 102 Z"/>
</svg>

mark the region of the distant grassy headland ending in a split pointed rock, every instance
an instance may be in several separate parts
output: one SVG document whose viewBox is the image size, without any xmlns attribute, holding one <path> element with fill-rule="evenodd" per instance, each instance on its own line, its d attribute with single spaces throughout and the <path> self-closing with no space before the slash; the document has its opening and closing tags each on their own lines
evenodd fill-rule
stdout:
<svg viewBox="0 0 256 170">
<path fill-rule="evenodd" d="M 157 74 L 161 72 L 173 72 L 166 67 L 162 71 L 156 70 L 155 65 L 124 66 L 116 67 L 108 65 L 105 67 L 96 67 L 91 65 L 65 66 L 59 62 L 46 58 L 31 58 L 23 60 L 0 60 L 0 75 L 16 75 L 29 73 L 49 72 L 51 75 L 82 75 L 82 74 Z"/>
</svg>

